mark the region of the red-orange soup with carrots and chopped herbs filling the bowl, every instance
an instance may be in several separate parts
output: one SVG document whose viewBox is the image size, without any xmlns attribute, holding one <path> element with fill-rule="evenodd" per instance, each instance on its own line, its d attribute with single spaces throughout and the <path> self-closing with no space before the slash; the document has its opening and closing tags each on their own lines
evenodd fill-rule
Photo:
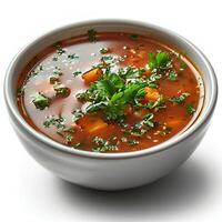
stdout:
<svg viewBox="0 0 222 222">
<path fill-rule="evenodd" d="M 185 130 L 201 110 L 202 87 L 184 53 L 92 29 L 34 57 L 20 74 L 17 101 L 31 127 L 70 149 L 129 152 Z"/>
</svg>

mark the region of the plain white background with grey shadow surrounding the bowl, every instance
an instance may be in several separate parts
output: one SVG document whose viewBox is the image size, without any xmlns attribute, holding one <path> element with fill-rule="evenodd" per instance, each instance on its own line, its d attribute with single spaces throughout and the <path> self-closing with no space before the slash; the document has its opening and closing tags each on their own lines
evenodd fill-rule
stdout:
<svg viewBox="0 0 222 222">
<path fill-rule="evenodd" d="M 124 18 L 174 30 L 210 59 L 222 83 L 222 6 L 219 1 L 109 0 L 0 2 L 0 221 L 222 221 L 222 98 L 199 149 L 176 172 L 145 188 L 105 193 L 57 179 L 17 139 L 6 111 L 3 77 L 13 56 L 60 26 Z"/>
</svg>

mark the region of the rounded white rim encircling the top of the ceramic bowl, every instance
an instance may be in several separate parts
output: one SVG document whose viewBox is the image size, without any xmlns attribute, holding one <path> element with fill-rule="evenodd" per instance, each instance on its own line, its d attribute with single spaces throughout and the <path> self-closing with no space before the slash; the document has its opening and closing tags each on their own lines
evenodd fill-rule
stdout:
<svg viewBox="0 0 222 222">
<path fill-rule="evenodd" d="M 71 28 L 73 29 L 74 27 L 79 27 L 79 26 L 95 26 L 95 24 L 108 24 L 108 23 L 122 23 L 122 24 L 125 23 L 129 26 L 139 26 L 139 27 L 143 26 L 143 27 L 147 27 L 150 29 L 155 29 L 162 33 L 173 36 L 174 38 L 176 38 L 180 41 L 183 41 L 185 44 L 188 44 L 196 53 L 196 56 L 201 59 L 201 62 L 205 64 L 205 67 L 208 69 L 208 74 L 210 77 L 210 81 L 212 83 L 210 99 L 205 107 L 204 112 L 200 113 L 196 121 L 194 121 L 194 123 L 186 131 L 184 131 L 181 134 L 176 134 L 175 137 L 172 137 L 171 139 L 162 142 L 160 144 L 153 145 L 150 149 L 144 149 L 144 150 L 140 150 L 140 151 L 131 151 L 131 152 L 120 152 L 120 153 L 97 153 L 97 152 L 70 149 L 69 147 L 67 147 L 64 144 L 56 142 L 52 139 L 50 139 L 49 137 L 44 135 L 43 133 L 36 131 L 21 117 L 21 114 L 18 110 L 18 107 L 17 107 L 16 102 L 13 101 L 14 98 L 12 95 L 12 90 L 10 89 L 10 85 L 11 85 L 10 78 L 13 74 L 13 68 L 16 67 L 18 59 L 23 56 L 24 51 L 29 48 L 32 48 L 38 41 L 43 40 L 44 38 L 47 38 L 49 36 L 53 36 L 58 32 L 62 32 L 63 30 L 71 29 Z M 71 24 L 62 26 L 62 27 L 53 29 L 47 33 L 43 33 L 39 38 L 36 38 L 33 41 L 28 43 L 24 48 L 22 48 L 17 53 L 17 56 L 11 61 L 11 63 L 7 70 L 6 77 L 4 77 L 3 91 L 4 91 L 4 100 L 6 100 L 7 107 L 10 111 L 10 115 L 13 115 L 14 120 L 19 123 L 19 127 L 26 130 L 26 133 L 28 133 L 29 135 L 32 135 L 40 142 L 43 142 L 44 144 L 47 144 L 48 145 L 47 148 L 57 149 L 59 151 L 62 151 L 62 152 L 65 152 L 65 153 L 72 154 L 72 155 L 80 155 L 80 157 L 84 157 L 84 158 L 125 159 L 125 158 L 137 158 L 137 157 L 142 157 L 142 155 L 150 155 L 153 153 L 158 153 L 158 152 L 162 152 L 168 149 L 171 149 L 175 144 L 188 139 L 191 134 L 195 133 L 198 130 L 200 130 L 201 127 L 206 124 L 208 121 L 210 120 L 210 117 L 212 115 L 213 110 L 216 104 L 218 80 L 216 80 L 215 72 L 214 72 L 210 61 L 206 59 L 206 57 L 203 54 L 203 52 L 199 48 L 196 48 L 193 43 L 191 43 L 189 40 L 181 37 L 180 34 L 178 34 L 176 32 L 171 31 L 165 28 L 162 28 L 162 27 L 159 27 L 159 26 L 155 26 L 155 24 L 152 24 L 152 23 L 142 22 L 142 21 L 125 20 L 125 19 L 98 19 L 98 20 L 85 20 L 85 21 L 81 21 L 81 22 L 74 22 Z"/>
</svg>

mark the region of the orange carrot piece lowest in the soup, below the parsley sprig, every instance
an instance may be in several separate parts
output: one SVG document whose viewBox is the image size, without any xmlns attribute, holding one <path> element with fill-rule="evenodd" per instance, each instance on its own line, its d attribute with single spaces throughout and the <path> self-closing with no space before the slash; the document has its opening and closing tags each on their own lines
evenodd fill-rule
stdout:
<svg viewBox="0 0 222 222">
<path fill-rule="evenodd" d="M 98 117 L 88 117 L 88 115 L 78 120 L 78 125 L 80 125 L 89 133 L 94 133 L 97 131 L 104 130 L 108 127 L 108 124 L 102 119 Z"/>
</svg>

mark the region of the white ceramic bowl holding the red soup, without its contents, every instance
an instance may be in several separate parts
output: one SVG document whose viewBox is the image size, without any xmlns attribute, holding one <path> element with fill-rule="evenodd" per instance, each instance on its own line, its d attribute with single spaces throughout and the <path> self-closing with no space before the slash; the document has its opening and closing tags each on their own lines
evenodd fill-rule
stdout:
<svg viewBox="0 0 222 222">
<path fill-rule="evenodd" d="M 185 51 L 200 70 L 205 99 L 202 112 L 183 133 L 151 149 L 127 153 L 93 153 L 73 150 L 32 129 L 19 113 L 16 84 L 22 68 L 46 47 L 69 37 L 97 31 L 121 31 L 154 37 Z M 97 20 L 74 23 L 51 31 L 22 49 L 11 62 L 4 81 L 4 97 L 11 123 L 27 151 L 56 175 L 79 185 L 100 190 L 130 189 L 150 183 L 183 163 L 195 150 L 213 114 L 218 83 L 204 54 L 181 36 L 149 23 L 125 20 Z"/>
</svg>

